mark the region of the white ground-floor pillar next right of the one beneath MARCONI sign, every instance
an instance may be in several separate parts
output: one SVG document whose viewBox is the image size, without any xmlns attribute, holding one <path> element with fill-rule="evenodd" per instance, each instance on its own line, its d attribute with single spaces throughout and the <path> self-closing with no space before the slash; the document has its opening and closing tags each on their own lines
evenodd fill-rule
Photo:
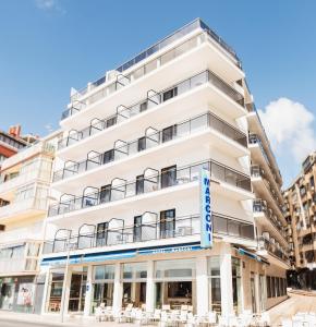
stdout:
<svg viewBox="0 0 316 327">
<path fill-rule="evenodd" d="M 220 251 L 220 295 L 223 316 L 233 314 L 233 292 L 231 272 L 231 247 L 229 243 L 221 244 Z"/>
</svg>

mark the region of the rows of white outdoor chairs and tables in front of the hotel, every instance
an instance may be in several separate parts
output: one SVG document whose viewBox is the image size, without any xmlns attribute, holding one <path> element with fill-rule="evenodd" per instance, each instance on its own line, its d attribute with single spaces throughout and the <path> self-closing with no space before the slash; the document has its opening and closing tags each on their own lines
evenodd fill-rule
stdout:
<svg viewBox="0 0 316 327">
<path fill-rule="evenodd" d="M 105 306 L 105 303 L 101 303 L 98 307 L 96 307 L 95 316 L 96 316 L 96 320 L 100 323 L 101 322 L 133 323 L 138 326 L 142 325 L 161 326 L 161 327 L 271 326 L 269 314 L 266 312 L 262 314 L 253 314 L 251 311 L 244 311 L 240 315 L 233 314 L 230 316 L 221 316 L 217 312 L 209 312 L 205 316 L 197 316 L 193 313 L 192 305 L 181 305 L 180 310 L 171 310 L 170 305 L 162 305 L 161 308 L 156 308 L 154 312 L 148 312 L 146 311 L 145 304 L 143 304 L 142 307 L 134 307 L 133 304 L 127 304 L 125 308 L 119 312 L 113 312 L 111 306 Z"/>
</svg>

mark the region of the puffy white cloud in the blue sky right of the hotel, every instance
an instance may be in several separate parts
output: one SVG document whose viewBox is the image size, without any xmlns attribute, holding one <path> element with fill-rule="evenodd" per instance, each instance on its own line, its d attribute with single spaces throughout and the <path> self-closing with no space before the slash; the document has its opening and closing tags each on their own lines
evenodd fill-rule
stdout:
<svg viewBox="0 0 316 327">
<path fill-rule="evenodd" d="M 301 164 L 316 150 L 315 117 L 304 105 L 279 98 L 258 113 L 277 156 L 290 155 Z"/>
</svg>

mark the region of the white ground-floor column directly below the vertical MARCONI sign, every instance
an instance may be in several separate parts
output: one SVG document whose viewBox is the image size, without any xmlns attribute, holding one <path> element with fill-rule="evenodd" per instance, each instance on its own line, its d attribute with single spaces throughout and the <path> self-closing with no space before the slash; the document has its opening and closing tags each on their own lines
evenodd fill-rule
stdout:
<svg viewBox="0 0 316 327">
<path fill-rule="evenodd" d="M 206 315 L 209 311 L 207 257 L 196 258 L 196 314 Z"/>
</svg>

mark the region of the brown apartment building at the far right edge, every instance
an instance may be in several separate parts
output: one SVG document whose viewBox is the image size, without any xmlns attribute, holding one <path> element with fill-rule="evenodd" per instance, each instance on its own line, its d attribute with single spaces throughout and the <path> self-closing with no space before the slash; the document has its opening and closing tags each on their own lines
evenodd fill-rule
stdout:
<svg viewBox="0 0 316 327">
<path fill-rule="evenodd" d="M 291 229 L 289 242 L 296 267 L 296 287 L 316 290 L 316 153 L 302 164 L 302 171 L 284 191 L 284 215 Z M 293 275 L 295 276 L 295 274 Z"/>
</svg>

